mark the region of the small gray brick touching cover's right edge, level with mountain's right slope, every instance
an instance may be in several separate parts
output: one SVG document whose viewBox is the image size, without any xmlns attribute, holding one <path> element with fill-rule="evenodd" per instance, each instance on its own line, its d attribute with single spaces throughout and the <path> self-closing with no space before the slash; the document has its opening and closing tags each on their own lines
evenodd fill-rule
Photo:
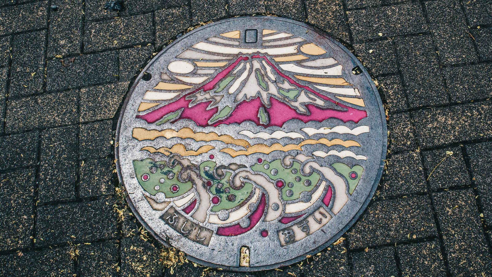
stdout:
<svg viewBox="0 0 492 277">
<path fill-rule="evenodd" d="M 390 112 L 408 109 L 406 95 L 399 75 L 378 77 L 379 90 L 384 95 Z"/>
</svg>

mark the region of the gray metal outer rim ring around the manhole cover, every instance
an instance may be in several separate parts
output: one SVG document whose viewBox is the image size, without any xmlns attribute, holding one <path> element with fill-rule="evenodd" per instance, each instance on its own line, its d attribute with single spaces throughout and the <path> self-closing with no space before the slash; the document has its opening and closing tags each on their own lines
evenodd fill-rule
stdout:
<svg viewBox="0 0 492 277">
<path fill-rule="evenodd" d="M 385 110 L 384 110 L 384 107 L 383 107 L 383 104 L 382 104 L 382 101 L 381 101 L 381 97 L 380 97 L 380 95 L 378 93 L 378 90 L 377 90 L 374 82 L 372 81 L 371 76 L 369 75 L 369 73 L 367 72 L 367 70 L 365 69 L 365 67 L 363 66 L 363 64 L 355 57 L 355 55 L 352 52 L 350 52 L 348 50 L 347 47 L 345 47 L 342 43 L 338 42 L 333 37 L 331 37 L 330 35 L 328 35 L 325 31 L 320 30 L 320 29 L 318 29 L 316 27 L 313 27 L 311 25 L 308 25 L 307 23 L 295 21 L 295 20 L 292 20 L 292 19 L 287 19 L 287 18 L 282 18 L 282 17 L 274 17 L 274 16 L 263 16 L 263 15 L 262 16 L 240 16 L 240 17 L 232 17 L 232 18 L 222 19 L 222 20 L 219 20 L 219 21 L 216 21 L 216 22 L 213 22 L 213 23 L 204 25 L 204 26 L 200 26 L 199 28 L 196 28 L 196 29 L 194 29 L 194 30 L 192 30 L 192 31 L 190 31 L 190 32 L 188 32 L 188 33 L 186 33 L 186 34 L 178 37 L 176 40 L 174 40 L 170 44 L 166 45 L 159 53 L 157 53 L 154 56 L 154 58 L 152 58 L 146 64 L 146 66 L 142 69 L 142 71 L 134 79 L 134 81 L 133 81 L 131 87 L 129 88 L 128 93 L 126 94 L 125 99 L 123 101 L 123 105 L 122 105 L 121 110 L 120 110 L 120 113 L 119 113 L 119 118 L 118 118 L 118 123 L 117 123 L 117 128 L 116 128 L 116 134 L 115 134 L 115 157 L 116 157 L 115 164 L 116 164 L 116 171 L 117 171 L 117 174 L 118 174 L 118 179 L 119 179 L 119 181 L 120 181 L 120 183 L 122 184 L 123 187 L 125 187 L 125 184 L 124 184 L 124 181 L 123 181 L 122 170 L 121 170 L 121 167 L 120 167 L 120 153 L 119 153 L 119 141 L 120 141 L 121 125 L 122 125 L 122 121 L 123 121 L 123 115 L 125 114 L 125 111 L 126 111 L 126 107 L 128 105 L 128 102 L 130 101 L 131 96 L 132 96 L 132 94 L 133 94 L 136 86 L 138 85 L 138 83 L 142 79 L 142 77 L 145 74 L 145 72 L 147 72 L 147 70 L 151 66 L 153 66 L 153 64 L 162 55 L 164 55 L 168 49 L 171 49 L 175 44 L 177 44 L 182 39 L 185 39 L 188 36 L 191 36 L 191 35 L 193 35 L 196 32 L 201 32 L 204 29 L 209 28 L 209 27 L 212 27 L 212 26 L 215 26 L 217 24 L 222 24 L 222 23 L 236 21 L 236 20 L 243 20 L 243 19 L 247 19 L 247 18 L 252 18 L 252 19 L 274 19 L 274 20 L 279 20 L 279 21 L 284 21 L 284 22 L 288 22 L 288 23 L 291 23 L 291 24 L 295 24 L 295 25 L 298 25 L 300 27 L 309 29 L 309 31 L 313 31 L 313 32 L 316 32 L 316 33 L 322 35 L 324 38 L 326 38 L 326 39 L 330 40 L 331 42 L 335 43 L 339 47 L 339 49 L 342 49 L 350 57 L 351 61 L 353 63 L 355 63 L 357 66 L 359 66 L 359 68 L 362 70 L 361 75 L 364 75 L 364 77 L 367 79 L 367 81 L 368 81 L 368 83 L 370 85 L 371 91 L 374 94 L 375 101 L 377 102 L 377 104 L 379 106 L 379 116 L 380 116 L 380 120 L 381 120 L 381 131 L 382 131 L 381 132 L 381 138 L 382 138 L 383 141 L 382 141 L 382 144 L 381 144 L 381 146 L 382 146 L 381 147 L 381 162 L 379 164 L 379 169 L 377 170 L 377 173 L 376 173 L 374 182 L 372 184 L 372 188 L 369 191 L 368 197 L 366 198 L 365 202 L 362 204 L 362 206 L 359 208 L 359 210 L 355 213 L 355 215 L 352 217 L 352 219 L 350 219 L 347 222 L 347 224 L 345 224 L 345 226 L 343 228 L 341 228 L 336 233 L 336 235 L 334 235 L 327 242 L 325 242 L 325 243 L 319 245 L 318 247 L 314 248 L 313 250 L 311 250 L 311 251 L 309 251 L 307 253 L 301 254 L 301 255 L 299 255 L 299 256 L 297 256 L 295 258 L 292 258 L 292 259 L 283 261 L 283 262 L 279 262 L 279 263 L 275 263 L 275 264 L 271 264 L 271 265 L 265 265 L 265 266 L 250 266 L 250 267 L 244 267 L 244 266 L 238 266 L 238 267 L 236 267 L 236 266 L 219 265 L 219 264 L 215 264 L 215 263 L 212 263 L 212 262 L 208 262 L 208 261 L 205 261 L 205 260 L 198 259 L 198 258 L 196 258 L 196 257 L 194 257 L 194 256 L 192 256 L 192 255 L 190 255 L 188 253 L 186 253 L 187 259 L 190 260 L 190 261 L 192 261 L 192 262 L 195 262 L 195 263 L 198 263 L 198 264 L 201 264 L 201 265 L 204 265 L 204 266 L 208 266 L 208 267 L 211 267 L 211 268 L 221 268 L 223 270 L 236 271 L 236 272 L 253 272 L 253 271 L 271 270 L 271 269 L 276 269 L 276 268 L 283 267 L 283 266 L 292 265 L 294 263 L 297 263 L 299 261 L 302 261 L 302 260 L 306 259 L 307 255 L 314 255 L 314 254 L 320 252 L 321 250 L 323 250 L 324 248 L 326 248 L 327 246 L 329 246 L 330 244 L 336 242 L 360 218 L 360 216 L 362 215 L 362 213 L 368 207 L 369 202 L 372 200 L 372 197 L 373 197 L 373 195 L 374 195 L 374 193 L 375 193 L 375 191 L 377 189 L 377 186 L 378 186 L 378 184 L 380 182 L 380 179 L 381 179 L 381 175 L 383 173 L 383 169 L 384 169 L 384 165 L 385 165 L 385 159 L 386 159 L 386 154 L 387 154 L 387 146 L 388 146 L 387 121 L 386 121 Z M 374 116 L 376 116 L 376 114 Z M 373 166 L 375 167 L 376 165 L 374 164 Z M 131 200 L 131 198 L 130 198 L 128 192 L 126 191 L 126 189 L 125 189 L 125 194 L 126 194 L 125 199 L 128 202 L 128 206 L 130 207 L 133 215 L 138 219 L 138 221 L 140 222 L 140 224 L 142 224 L 142 226 L 149 233 L 151 233 L 151 235 L 153 236 L 153 238 L 155 240 L 157 240 L 158 242 L 162 243 L 165 246 L 172 246 L 164 238 L 161 238 L 159 235 L 157 235 L 157 233 L 154 231 L 154 229 L 151 228 L 151 226 L 143 219 L 143 217 L 140 215 L 140 213 L 138 212 L 137 208 L 135 207 L 133 201 Z M 168 239 L 168 238 L 166 238 L 166 239 Z M 180 249 L 180 250 L 183 250 L 183 249 Z"/>
</svg>

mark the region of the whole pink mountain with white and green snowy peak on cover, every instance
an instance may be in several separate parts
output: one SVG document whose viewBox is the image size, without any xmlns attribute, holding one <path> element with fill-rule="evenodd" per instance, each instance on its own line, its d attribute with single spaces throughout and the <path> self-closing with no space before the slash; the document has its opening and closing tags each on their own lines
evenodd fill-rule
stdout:
<svg viewBox="0 0 492 277">
<path fill-rule="evenodd" d="M 290 119 L 357 123 L 366 116 L 365 110 L 339 104 L 297 83 L 267 57 L 253 54 L 237 58 L 205 85 L 137 118 L 157 124 L 187 118 L 202 127 L 248 120 L 282 127 Z"/>
</svg>

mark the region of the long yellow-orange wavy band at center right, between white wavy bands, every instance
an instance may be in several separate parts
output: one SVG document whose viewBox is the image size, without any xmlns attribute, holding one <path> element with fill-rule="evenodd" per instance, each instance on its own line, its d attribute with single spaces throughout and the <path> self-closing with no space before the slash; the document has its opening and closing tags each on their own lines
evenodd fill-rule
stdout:
<svg viewBox="0 0 492 277">
<path fill-rule="evenodd" d="M 320 139 L 306 139 L 299 144 L 287 144 L 285 146 L 283 146 L 280 143 L 274 143 L 270 146 L 268 146 L 266 144 L 258 143 L 258 144 L 254 144 L 254 145 L 250 146 L 249 148 L 247 148 L 247 150 L 236 151 L 232 148 L 224 148 L 224 149 L 220 150 L 220 152 L 227 153 L 227 154 L 231 155 L 231 157 L 235 158 L 235 157 L 240 156 L 240 155 L 246 155 L 247 156 L 247 155 L 251 155 L 254 153 L 270 154 L 271 152 L 276 151 L 276 150 L 283 151 L 283 152 L 287 152 L 290 150 L 302 151 L 301 146 L 304 146 L 307 144 L 318 144 L 318 143 L 325 144 L 326 146 L 332 146 L 332 145 L 342 145 L 345 147 L 350 147 L 350 146 L 359 146 L 360 147 L 361 146 L 359 144 L 359 142 L 357 142 L 355 140 L 341 140 L 339 138 L 329 140 L 327 138 L 320 138 Z"/>
</svg>

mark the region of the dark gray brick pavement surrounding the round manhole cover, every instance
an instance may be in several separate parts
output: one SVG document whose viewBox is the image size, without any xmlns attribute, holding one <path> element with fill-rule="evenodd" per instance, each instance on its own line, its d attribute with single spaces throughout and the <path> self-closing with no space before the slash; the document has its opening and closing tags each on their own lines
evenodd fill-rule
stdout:
<svg viewBox="0 0 492 277">
<path fill-rule="evenodd" d="M 388 170 L 319 255 L 206 274 L 492 275 L 490 0 L 125 0 L 119 13 L 105 2 L 0 1 L 1 276 L 202 275 L 191 263 L 163 271 L 161 246 L 115 206 L 118 112 L 169 40 L 258 13 L 306 21 L 365 63 L 388 110 Z"/>
</svg>

